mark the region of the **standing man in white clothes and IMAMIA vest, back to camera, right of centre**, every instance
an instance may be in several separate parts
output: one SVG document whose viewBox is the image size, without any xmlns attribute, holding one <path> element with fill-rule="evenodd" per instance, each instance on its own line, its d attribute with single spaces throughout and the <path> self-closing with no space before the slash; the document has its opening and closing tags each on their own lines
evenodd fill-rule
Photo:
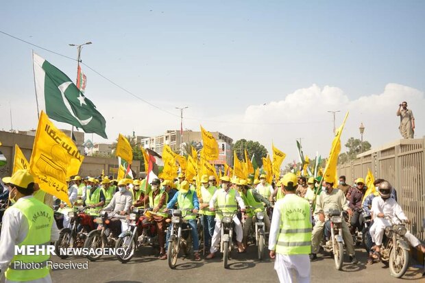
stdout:
<svg viewBox="0 0 425 283">
<path fill-rule="evenodd" d="M 295 194 L 297 176 L 282 179 L 285 197 L 276 201 L 269 234 L 270 258 L 280 282 L 310 282 L 311 212 L 308 201 Z"/>
</svg>

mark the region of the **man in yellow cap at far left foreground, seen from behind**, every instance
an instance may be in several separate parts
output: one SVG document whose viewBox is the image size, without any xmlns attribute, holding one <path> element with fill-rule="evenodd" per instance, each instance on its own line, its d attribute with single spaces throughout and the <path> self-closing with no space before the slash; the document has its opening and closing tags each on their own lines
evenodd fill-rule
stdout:
<svg viewBox="0 0 425 283">
<path fill-rule="evenodd" d="M 59 231 L 53 210 L 32 193 L 34 177 L 27 170 L 16 171 L 10 178 L 9 193 L 14 205 L 5 210 L 0 237 L 0 279 L 5 273 L 5 282 L 52 282 L 46 247 L 58 240 Z M 15 245 L 24 249 L 37 246 L 42 251 L 15 254 Z"/>
</svg>

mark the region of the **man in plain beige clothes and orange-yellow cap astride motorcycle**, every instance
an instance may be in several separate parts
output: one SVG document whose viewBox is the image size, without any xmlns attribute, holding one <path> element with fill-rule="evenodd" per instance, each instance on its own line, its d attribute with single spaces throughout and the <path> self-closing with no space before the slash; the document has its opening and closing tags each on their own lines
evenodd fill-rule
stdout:
<svg viewBox="0 0 425 283">
<path fill-rule="evenodd" d="M 334 178 L 330 176 L 326 176 L 325 178 L 325 186 L 322 187 L 324 190 L 320 195 L 317 196 L 317 203 L 315 207 L 315 218 L 316 223 L 313 227 L 313 233 L 311 238 L 311 260 L 317 259 L 317 251 L 319 251 L 319 244 L 321 239 L 323 238 L 324 227 L 326 223 L 325 212 L 330 210 L 345 210 L 348 214 L 352 214 L 352 210 L 348 207 L 347 199 L 345 198 L 344 193 L 341 190 L 334 189 Z M 350 234 L 350 230 L 348 229 L 347 223 L 345 223 L 344 219 L 342 219 L 342 230 L 343 230 L 343 241 L 347 247 L 348 254 L 350 255 L 350 260 L 352 264 L 356 264 L 358 261 L 356 260 L 355 251 L 354 251 L 354 243 L 353 238 Z"/>
</svg>

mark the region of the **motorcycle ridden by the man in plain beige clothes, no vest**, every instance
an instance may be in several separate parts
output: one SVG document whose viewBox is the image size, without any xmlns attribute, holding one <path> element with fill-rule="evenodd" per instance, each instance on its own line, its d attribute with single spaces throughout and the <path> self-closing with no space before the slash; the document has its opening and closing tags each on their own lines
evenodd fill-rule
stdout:
<svg viewBox="0 0 425 283">
<path fill-rule="evenodd" d="M 330 221 L 330 239 L 322 245 L 324 251 L 332 253 L 335 260 L 335 268 L 341 270 L 344 256 L 344 241 L 342 235 L 343 212 L 339 210 L 330 210 L 326 212 L 328 221 Z"/>
</svg>

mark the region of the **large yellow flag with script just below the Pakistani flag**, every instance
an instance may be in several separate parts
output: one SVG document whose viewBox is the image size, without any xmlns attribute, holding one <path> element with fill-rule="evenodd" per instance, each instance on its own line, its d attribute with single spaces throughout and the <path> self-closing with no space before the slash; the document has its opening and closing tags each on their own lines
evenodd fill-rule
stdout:
<svg viewBox="0 0 425 283">
<path fill-rule="evenodd" d="M 29 170 L 40 188 L 71 206 L 66 177 L 77 175 L 84 156 L 63 132 L 40 113 Z"/>
</svg>

